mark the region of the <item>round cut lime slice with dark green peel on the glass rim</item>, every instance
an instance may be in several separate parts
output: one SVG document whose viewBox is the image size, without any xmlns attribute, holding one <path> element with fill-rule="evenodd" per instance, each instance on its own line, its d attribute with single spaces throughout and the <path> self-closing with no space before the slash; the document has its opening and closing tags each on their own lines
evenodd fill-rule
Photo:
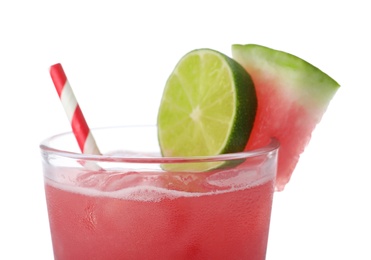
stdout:
<svg viewBox="0 0 371 260">
<path fill-rule="evenodd" d="M 193 50 L 178 62 L 163 92 L 157 118 L 162 155 L 213 156 L 243 151 L 256 109 L 253 82 L 239 63 L 215 50 Z M 164 167 L 205 171 L 223 164 Z"/>
</svg>

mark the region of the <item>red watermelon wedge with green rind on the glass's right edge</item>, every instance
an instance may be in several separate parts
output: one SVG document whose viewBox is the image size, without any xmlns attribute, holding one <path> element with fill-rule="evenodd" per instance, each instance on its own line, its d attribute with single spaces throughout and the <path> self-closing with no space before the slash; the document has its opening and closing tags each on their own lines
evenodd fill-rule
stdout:
<svg viewBox="0 0 371 260">
<path fill-rule="evenodd" d="M 276 189 L 281 191 L 339 84 L 308 62 L 264 46 L 236 44 L 232 56 L 250 74 L 258 100 L 246 150 L 271 137 L 280 141 Z"/>
</svg>

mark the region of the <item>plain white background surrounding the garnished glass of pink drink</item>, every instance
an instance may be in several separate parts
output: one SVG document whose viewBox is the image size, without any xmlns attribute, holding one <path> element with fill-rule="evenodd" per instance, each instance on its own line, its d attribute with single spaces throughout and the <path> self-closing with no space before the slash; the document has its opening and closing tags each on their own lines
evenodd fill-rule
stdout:
<svg viewBox="0 0 371 260">
<path fill-rule="evenodd" d="M 91 127 L 155 123 L 186 52 L 257 43 L 341 84 L 291 182 L 275 194 L 268 260 L 371 259 L 367 1 L 0 2 L 0 259 L 52 259 L 38 144 L 69 130 L 62 63 Z"/>
</svg>

